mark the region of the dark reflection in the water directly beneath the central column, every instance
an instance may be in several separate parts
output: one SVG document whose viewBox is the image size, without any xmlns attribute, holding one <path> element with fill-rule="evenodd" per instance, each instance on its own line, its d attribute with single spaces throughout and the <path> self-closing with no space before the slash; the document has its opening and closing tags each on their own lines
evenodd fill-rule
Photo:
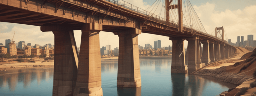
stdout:
<svg viewBox="0 0 256 96">
<path fill-rule="evenodd" d="M 141 87 L 138 88 L 122 88 L 117 87 L 118 96 L 141 96 Z"/>
</svg>

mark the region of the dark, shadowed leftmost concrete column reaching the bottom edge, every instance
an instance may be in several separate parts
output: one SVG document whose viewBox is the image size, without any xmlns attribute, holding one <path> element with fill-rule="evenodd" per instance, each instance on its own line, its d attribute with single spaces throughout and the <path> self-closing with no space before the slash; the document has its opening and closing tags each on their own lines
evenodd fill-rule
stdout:
<svg viewBox="0 0 256 96">
<path fill-rule="evenodd" d="M 52 96 L 72 96 L 77 77 L 77 49 L 73 31 L 53 31 L 54 73 Z"/>
</svg>

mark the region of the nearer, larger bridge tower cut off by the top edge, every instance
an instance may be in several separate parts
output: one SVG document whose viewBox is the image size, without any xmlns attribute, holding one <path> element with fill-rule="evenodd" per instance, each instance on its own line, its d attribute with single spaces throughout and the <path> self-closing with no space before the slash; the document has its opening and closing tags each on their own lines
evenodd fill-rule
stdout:
<svg viewBox="0 0 256 96">
<path fill-rule="evenodd" d="M 178 9 L 179 11 L 179 32 L 183 33 L 183 22 L 182 22 L 182 0 L 178 0 L 178 5 L 170 5 L 173 0 L 165 0 L 165 14 L 166 14 L 166 21 L 170 20 L 170 9 Z"/>
</svg>

